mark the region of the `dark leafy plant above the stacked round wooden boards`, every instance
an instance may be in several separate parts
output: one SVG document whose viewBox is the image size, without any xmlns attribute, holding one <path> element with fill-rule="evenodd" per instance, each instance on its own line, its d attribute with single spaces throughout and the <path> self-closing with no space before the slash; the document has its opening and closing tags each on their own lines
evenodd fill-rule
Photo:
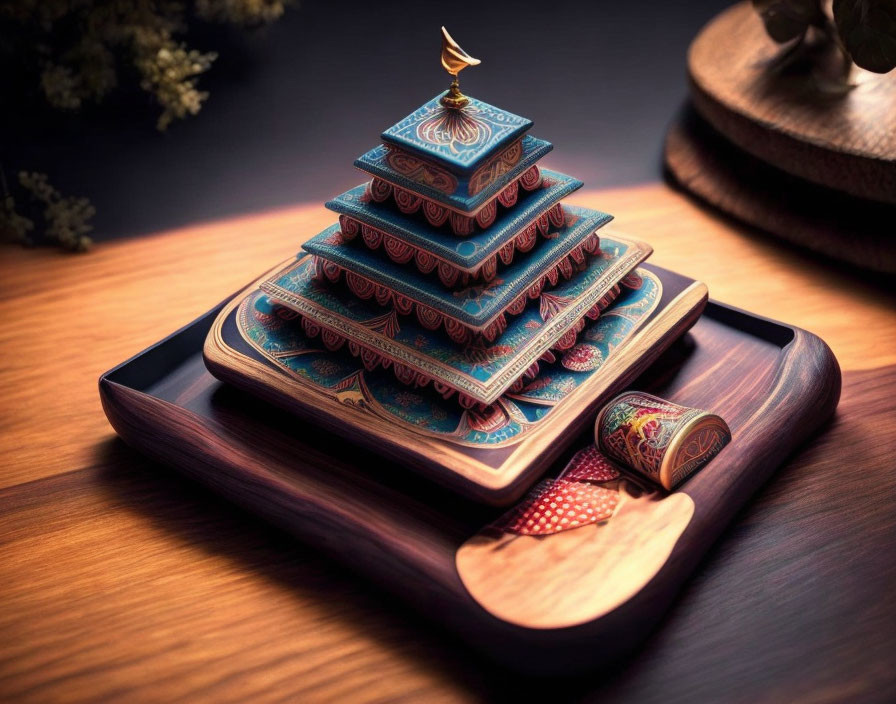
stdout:
<svg viewBox="0 0 896 704">
<path fill-rule="evenodd" d="M 875 73 L 896 68 L 896 0 L 753 0 L 776 42 L 801 44 L 815 30 L 857 66 Z"/>
</svg>

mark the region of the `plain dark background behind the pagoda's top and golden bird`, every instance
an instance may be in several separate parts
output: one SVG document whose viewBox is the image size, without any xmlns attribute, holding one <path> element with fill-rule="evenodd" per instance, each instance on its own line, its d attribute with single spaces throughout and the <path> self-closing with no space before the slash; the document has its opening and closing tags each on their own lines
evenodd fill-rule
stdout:
<svg viewBox="0 0 896 704">
<path fill-rule="evenodd" d="M 533 119 L 548 165 L 586 187 L 656 180 L 687 46 L 728 4 L 305 0 L 249 34 L 197 28 L 191 44 L 220 52 L 211 97 L 166 134 L 139 91 L 74 117 L 5 105 L 0 161 L 90 197 L 95 239 L 321 201 L 363 181 L 354 158 L 447 87 L 444 24 L 483 61 L 464 92 Z"/>
</svg>

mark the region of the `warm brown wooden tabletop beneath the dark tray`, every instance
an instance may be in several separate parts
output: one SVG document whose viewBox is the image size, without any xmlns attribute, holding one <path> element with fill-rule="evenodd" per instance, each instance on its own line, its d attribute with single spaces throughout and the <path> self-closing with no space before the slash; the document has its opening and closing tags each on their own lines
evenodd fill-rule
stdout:
<svg viewBox="0 0 896 704">
<path fill-rule="evenodd" d="M 837 418 L 735 520 L 636 657 L 521 682 L 115 437 L 99 375 L 333 219 L 308 206 L 84 256 L 0 250 L 0 699 L 896 700 L 892 281 L 658 184 L 571 202 L 614 213 L 613 229 L 714 298 L 820 335 L 844 371 Z"/>
</svg>

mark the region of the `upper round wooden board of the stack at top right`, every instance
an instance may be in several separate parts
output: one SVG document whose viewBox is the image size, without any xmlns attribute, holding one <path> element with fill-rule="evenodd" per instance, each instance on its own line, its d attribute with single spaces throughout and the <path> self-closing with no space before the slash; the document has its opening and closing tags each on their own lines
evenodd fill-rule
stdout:
<svg viewBox="0 0 896 704">
<path fill-rule="evenodd" d="M 697 110 L 736 145 L 801 178 L 896 203 L 896 71 L 853 67 L 843 88 L 836 52 L 818 47 L 782 67 L 782 48 L 749 2 L 714 18 L 691 44 Z M 810 60 L 811 55 L 811 60 Z"/>
</svg>

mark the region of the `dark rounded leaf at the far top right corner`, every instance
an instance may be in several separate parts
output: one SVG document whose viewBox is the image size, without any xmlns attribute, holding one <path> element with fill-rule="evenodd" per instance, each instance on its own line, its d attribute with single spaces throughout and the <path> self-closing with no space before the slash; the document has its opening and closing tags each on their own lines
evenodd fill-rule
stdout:
<svg viewBox="0 0 896 704">
<path fill-rule="evenodd" d="M 834 0 L 834 22 L 856 65 L 875 73 L 896 68 L 896 0 Z"/>
</svg>

